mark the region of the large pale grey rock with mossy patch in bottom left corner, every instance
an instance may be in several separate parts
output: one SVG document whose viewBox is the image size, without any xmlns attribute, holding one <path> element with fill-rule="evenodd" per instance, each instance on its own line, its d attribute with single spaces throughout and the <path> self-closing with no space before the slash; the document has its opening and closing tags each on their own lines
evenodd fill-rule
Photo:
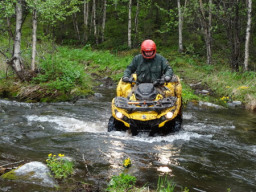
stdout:
<svg viewBox="0 0 256 192">
<path fill-rule="evenodd" d="M 55 187 L 57 183 L 50 177 L 49 168 L 37 161 L 26 163 L 21 167 L 1 176 L 4 179 L 20 180 L 46 187 Z"/>
</svg>

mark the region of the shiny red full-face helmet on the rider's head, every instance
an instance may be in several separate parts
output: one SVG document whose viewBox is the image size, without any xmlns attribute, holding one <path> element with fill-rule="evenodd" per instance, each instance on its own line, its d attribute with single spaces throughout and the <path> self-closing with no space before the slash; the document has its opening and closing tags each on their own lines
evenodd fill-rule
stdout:
<svg viewBox="0 0 256 192">
<path fill-rule="evenodd" d="M 141 54 L 145 59 L 153 59 L 156 56 L 156 44 L 148 39 L 141 44 Z"/>
</svg>

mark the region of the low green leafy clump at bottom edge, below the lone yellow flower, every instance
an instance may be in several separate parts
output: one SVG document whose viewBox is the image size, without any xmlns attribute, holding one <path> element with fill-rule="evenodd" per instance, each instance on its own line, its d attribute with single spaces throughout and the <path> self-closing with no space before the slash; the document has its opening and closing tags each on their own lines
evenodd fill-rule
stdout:
<svg viewBox="0 0 256 192">
<path fill-rule="evenodd" d="M 136 177 L 129 174 L 123 174 L 113 176 L 108 184 L 107 191 L 109 192 L 123 192 L 132 191 L 135 187 Z"/>
</svg>

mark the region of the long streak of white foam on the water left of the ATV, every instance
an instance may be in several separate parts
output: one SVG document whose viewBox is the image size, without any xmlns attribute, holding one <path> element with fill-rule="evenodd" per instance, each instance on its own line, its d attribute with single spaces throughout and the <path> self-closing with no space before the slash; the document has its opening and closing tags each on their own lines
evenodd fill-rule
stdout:
<svg viewBox="0 0 256 192">
<path fill-rule="evenodd" d="M 28 122 L 49 122 L 56 124 L 55 129 L 64 132 L 106 132 L 106 123 L 102 121 L 84 122 L 75 118 L 62 116 L 26 116 Z"/>
</svg>

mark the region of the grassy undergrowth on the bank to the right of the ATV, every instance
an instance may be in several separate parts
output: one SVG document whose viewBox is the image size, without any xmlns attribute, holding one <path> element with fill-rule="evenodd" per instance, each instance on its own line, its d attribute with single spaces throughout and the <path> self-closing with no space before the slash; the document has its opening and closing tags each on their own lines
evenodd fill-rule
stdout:
<svg viewBox="0 0 256 192">
<path fill-rule="evenodd" d="M 181 55 L 177 52 L 169 53 L 164 53 L 164 55 L 170 61 L 175 73 L 186 84 L 201 82 L 217 95 L 216 102 L 221 103 L 223 97 L 228 98 L 226 102 L 239 100 L 249 103 L 256 100 L 256 73 L 254 71 L 233 72 L 227 65 L 223 65 L 225 61 L 218 58 L 213 65 L 207 65 L 205 60 L 202 60 L 203 58 Z M 186 84 L 183 83 L 183 100 L 199 99 L 200 97 L 195 96 L 193 90 Z M 208 100 L 209 98 L 201 97 L 200 99 Z"/>
</svg>

